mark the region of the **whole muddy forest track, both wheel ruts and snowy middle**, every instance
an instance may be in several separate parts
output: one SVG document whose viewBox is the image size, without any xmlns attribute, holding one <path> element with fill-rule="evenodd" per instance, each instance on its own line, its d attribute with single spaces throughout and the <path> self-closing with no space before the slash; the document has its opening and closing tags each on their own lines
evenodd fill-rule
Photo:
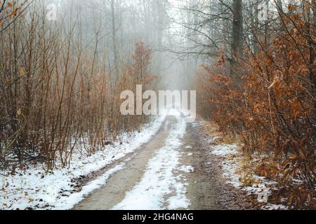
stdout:
<svg viewBox="0 0 316 224">
<path fill-rule="evenodd" d="M 222 179 L 220 161 L 209 153 L 209 139 L 201 123 L 197 121 L 197 123 L 186 124 L 185 134 L 179 139 L 173 139 L 171 132 L 176 131 L 179 122 L 181 120 L 176 117 L 168 116 L 161 130 L 151 141 L 120 161 L 124 162 L 124 169 L 112 174 L 102 188 L 88 195 L 74 209 L 251 209 L 251 204 L 245 202 L 242 193 L 227 186 Z M 178 147 L 169 149 L 169 145 L 178 140 L 181 141 Z M 164 156 L 163 162 L 161 164 L 157 162 L 157 169 L 150 168 L 151 164 L 162 156 Z M 168 158 L 174 160 L 171 164 L 176 167 L 172 169 L 172 175 L 168 173 L 166 167 Z M 155 171 L 150 173 L 149 169 L 155 169 Z M 148 179 L 150 175 L 152 179 Z M 161 184 L 146 183 L 150 180 L 154 182 L 154 175 L 158 176 L 156 182 L 161 181 Z M 178 183 L 169 183 L 169 186 L 164 184 L 164 182 L 176 182 L 176 180 Z M 144 184 L 150 187 L 141 188 Z M 157 207 L 150 207 L 152 204 L 146 207 L 144 198 L 138 198 L 138 193 L 145 200 L 146 197 L 157 197 Z M 131 199 L 133 194 L 136 196 Z M 163 197 L 159 197 L 159 194 L 160 196 L 163 194 Z M 126 200 L 126 197 L 129 197 L 129 200 Z M 118 206 L 120 203 L 123 204 L 121 207 Z M 133 203 L 136 203 L 135 207 Z M 137 203 L 144 203 L 144 205 L 139 207 Z"/>
</svg>

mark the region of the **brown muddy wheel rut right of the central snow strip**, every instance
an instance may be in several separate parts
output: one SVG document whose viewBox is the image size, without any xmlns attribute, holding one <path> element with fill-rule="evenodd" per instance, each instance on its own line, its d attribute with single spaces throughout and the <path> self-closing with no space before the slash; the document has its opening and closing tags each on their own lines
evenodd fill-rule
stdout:
<svg viewBox="0 0 316 224">
<path fill-rule="evenodd" d="M 186 174 L 189 180 L 187 196 L 190 198 L 191 210 L 251 210 L 253 202 L 246 193 L 236 190 L 223 179 L 222 160 L 212 155 L 209 135 L 205 133 L 202 123 L 187 124 L 183 164 L 190 164 L 195 172 Z"/>
</svg>

